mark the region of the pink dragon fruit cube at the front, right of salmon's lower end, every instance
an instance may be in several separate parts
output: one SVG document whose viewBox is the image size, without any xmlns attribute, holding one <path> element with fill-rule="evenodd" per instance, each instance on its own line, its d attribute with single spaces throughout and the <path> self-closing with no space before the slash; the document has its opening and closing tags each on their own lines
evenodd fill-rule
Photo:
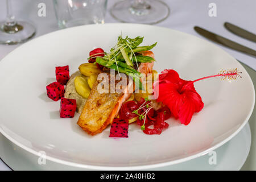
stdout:
<svg viewBox="0 0 256 182">
<path fill-rule="evenodd" d="M 115 118 L 110 129 L 109 137 L 125 137 L 128 138 L 129 122 L 123 119 Z"/>
</svg>

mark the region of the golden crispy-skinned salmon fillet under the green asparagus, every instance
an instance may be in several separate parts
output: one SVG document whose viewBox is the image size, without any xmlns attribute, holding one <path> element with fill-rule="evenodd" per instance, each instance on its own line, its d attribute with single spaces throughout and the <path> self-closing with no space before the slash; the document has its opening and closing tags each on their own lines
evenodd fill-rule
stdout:
<svg viewBox="0 0 256 182">
<path fill-rule="evenodd" d="M 140 53 L 154 58 L 152 51 L 143 51 Z M 153 66 L 154 62 L 141 63 L 139 64 L 138 71 L 147 75 L 147 73 L 152 73 Z M 101 133 L 102 130 L 113 122 L 122 104 L 131 96 L 131 93 L 128 91 L 131 89 L 131 86 L 133 86 L 133 82 L 128 82 L 126 88 L 122 89 L 122 93 L 99 93 L 97 87 L 101 82 L 102 81 L 97 80 L 94 83 L 79 120 L 77 121 L 77 125 L 90 135 Z"/>
</svg>

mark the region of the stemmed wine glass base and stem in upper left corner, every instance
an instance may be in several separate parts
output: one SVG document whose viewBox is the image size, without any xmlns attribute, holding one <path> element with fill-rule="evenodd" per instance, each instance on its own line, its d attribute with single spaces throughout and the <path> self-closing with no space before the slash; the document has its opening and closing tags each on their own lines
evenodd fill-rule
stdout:
<svg viewBox="0 0 256 182">
<path fill-rule="evenodd" d="M 32 38 L 36 28 L 31 23 L 15 20 L 10 0 L 6 0 L 6 8 L 7 18 L 0 22 L 0 44 L 18 44 Z"/>
</svg>

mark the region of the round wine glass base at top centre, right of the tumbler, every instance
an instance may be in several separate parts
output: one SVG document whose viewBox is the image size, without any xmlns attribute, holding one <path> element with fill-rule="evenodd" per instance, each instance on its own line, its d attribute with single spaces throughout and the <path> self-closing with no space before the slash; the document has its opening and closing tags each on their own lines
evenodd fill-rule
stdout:
<svg viewBox="0 0 256 182">
<path fill-rule="evenodd" d="M 110 14 L 120 22 L 155 24 L 170 15 L 170 8 L 159 0 L 123 0 L 114 4 Z"/>
</svg>

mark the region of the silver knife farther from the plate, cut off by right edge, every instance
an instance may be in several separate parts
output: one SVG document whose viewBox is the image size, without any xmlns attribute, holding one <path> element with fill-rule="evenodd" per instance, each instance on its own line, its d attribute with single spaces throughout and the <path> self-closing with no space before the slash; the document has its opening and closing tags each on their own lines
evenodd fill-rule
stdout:
<svg viewBox="0 0 256 182">
<path fill-rule="evenodd" d="M 245 38 L 247 40 L 251 40 L 253 42 L 256 42 L 256 35 L 247 31 L 247 30 L 244 30 L 243 28 L 240 28 L 240 27 L 235 26 L 234 24 L 231 24 L 231 23 L 228 23 L 228 22 L 224 23 L 224 27 L 226 29 L 228 29 L 230 32 L 232 32 L 233 34 L 241 36 L 242 38 Z"/>
</svg>

